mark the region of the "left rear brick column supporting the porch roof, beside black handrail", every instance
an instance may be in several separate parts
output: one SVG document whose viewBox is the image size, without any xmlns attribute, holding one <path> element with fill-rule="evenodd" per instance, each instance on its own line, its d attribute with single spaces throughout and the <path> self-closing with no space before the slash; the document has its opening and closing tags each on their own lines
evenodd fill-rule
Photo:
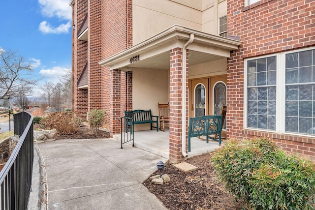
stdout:
<svg viewBox="0 0 315 210">
<path fill-rule="evenodd" d="M 120 70 L 110 71 L 110 137 L 114 134 L 120 133 L 120 122 L 118 119 L 121 117 L 121 72 Z"/>
</svg>

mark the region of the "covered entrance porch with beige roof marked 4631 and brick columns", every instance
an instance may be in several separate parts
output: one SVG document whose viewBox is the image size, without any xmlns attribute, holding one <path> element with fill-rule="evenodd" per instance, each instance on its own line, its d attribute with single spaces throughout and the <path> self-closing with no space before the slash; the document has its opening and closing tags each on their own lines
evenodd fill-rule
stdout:
<svg viewBox="0 0 315 210">
<path fill-rule="evenodd" d="M 240 44 L 233 39 L 174 25 L 100 61 L 99 64 L 109 67 L 111 73 L 111 135 L 120 132 L 118 119 L 124 110 L 151 109 L 152 115 L 157 116 L 158 102 L 169 102 L 169 133 L 155 131 L 152 135 L 145 135 L 152 131 L 138 126 L 135 128 L 136 147 L 164 152 L 172 163 L 191 156 L 192 153 L 187 153 L 188 120 L 189 117 L 194 117 L 189 114 L 194 106 L 189 103 L 189 79 L 218 75 L 226 77 L 226 59 L 230 57 L 230 51 L 237 49 Z M 126 79 L 122 79 L 121 75 L 126 75 Z M 206 106 L 214 105 L 209 101 L 204 104 Z M 211 111 L 210 108 L 204 109 Z M 211 115 L 210 111 L 205 111 L 204 115 Z M 143 137 L 140 137 L 142 133 Z M 191 151 L 196 154 L 199 152 L 197 148 L 205 153 L 215 150 L 209 149 L 212 144 L 219 147 L 217 142 L 207 145 L 200 139 L 193 138 L 192 141 L 194 140 L 196 144 L 192 143 Z M 198 141 L 201 145 L 194 149 Z"/>
</svg>

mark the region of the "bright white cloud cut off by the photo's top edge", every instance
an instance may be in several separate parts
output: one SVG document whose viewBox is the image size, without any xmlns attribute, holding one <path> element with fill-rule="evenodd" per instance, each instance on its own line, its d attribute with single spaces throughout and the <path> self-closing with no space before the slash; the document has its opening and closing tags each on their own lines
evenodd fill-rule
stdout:
<svg viewBox="0 0 315 210">
<path fill-rule="evenodd" d="M 38 0 L 41 12 L 47 17 L 58 17 L 61 20 L 71 20 L 69 0 Z"/>
</svg>

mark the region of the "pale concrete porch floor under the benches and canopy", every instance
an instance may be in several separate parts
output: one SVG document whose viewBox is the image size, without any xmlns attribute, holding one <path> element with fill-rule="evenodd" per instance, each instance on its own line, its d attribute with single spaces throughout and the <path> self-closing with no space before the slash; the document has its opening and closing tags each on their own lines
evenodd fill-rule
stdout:
<svg viewBox="0 0 315 210">
<path fill-rule="evenodd" d="M 113 138 L 121 141 L 121 134 L 116 134 Z M 201 138 L 205 139 L 205 136 L 201 136 Z M 132 141 L 126 144 L 132 145 Z M 201 140 L 197 137 L 190 139 L 190 145 L 191 152 L 188 152 L 188 157 L 208 153 L 220 148 L 218 142 L 209 140 L 207 144 L 206 140 Z M 165 129 L 164 132 L 157 132 L 156 130 L 135 131 L 134 146 L 169 159 L 169 130 Z"/>
</svg>

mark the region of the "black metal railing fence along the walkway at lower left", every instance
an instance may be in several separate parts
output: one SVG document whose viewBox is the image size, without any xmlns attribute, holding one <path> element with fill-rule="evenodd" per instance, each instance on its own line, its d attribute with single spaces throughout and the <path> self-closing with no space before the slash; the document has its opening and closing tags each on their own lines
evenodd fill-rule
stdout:
<svg viewBox="0 0 315 210">
<path fill-rule="evenodd" d="M 0 172 L 1 210 L 26 210 L 32 186 L 33 117 L 14 115 L 14 134 L 20 139 Z"/>
</svg>

